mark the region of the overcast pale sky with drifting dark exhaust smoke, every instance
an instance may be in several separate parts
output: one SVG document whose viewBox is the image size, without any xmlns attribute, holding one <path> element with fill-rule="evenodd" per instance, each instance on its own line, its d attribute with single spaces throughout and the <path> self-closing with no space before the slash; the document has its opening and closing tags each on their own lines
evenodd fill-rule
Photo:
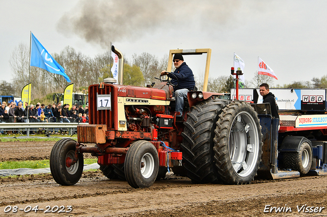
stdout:
<svg viewBox="0 0 327 217">
<path fill-rule="evenodd" d="M 258 57 L 273 69 L 274 85 L 326 75 L 327 1 L 0 0 L 0 80 L 11 82 L 9 60 L 30 31 L 50 53 L 71 46 L 90 57 L 109 50 L 125 58 L 169 49 L 211 48 L 211 77 L 229 75 L 233 53 L 245 62 L 247 82 Z M 205 55 L 184 58 L 194 74 Z M 159 72 L 158 72 L 159 74 Z M 28 79 L 27 79 L 28 82 Z M 26 83 L 27 83 L 26 82 Z"/>
</svg>

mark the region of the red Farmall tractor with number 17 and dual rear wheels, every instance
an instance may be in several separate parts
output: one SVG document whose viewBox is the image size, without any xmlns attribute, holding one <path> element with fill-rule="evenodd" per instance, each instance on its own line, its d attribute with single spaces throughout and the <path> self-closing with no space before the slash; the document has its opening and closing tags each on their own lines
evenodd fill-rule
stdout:
<svg viewBox="0 0 327 217">
<path fill-rule="evenodd" d="M 123 62 L 122 53 L 112 46 Z M 211 49 L 171 50 L 207 53 L 208 78 Z M 50 169 L 61 185 L 77 183 L 83 172 L 83 153 L 98 157 L 109 179 L 122 179 L 134 188 L 150 187 L 171 168 L 194 183 L 249 183 L 262 155 L 260 121 L 246 102 L 223 99 L 223 94 L 190 91 L 184 101 L 183 121 L 176 121 L 173 87 L 160 77 L 153 87 L 118 84 L 112 78 L 88 88 L 89 124 L 77 127 L 78 141 L 58 141 L 50 156 Z M 86 146 L 89 145 L 89 146 Z"/>
</svg>

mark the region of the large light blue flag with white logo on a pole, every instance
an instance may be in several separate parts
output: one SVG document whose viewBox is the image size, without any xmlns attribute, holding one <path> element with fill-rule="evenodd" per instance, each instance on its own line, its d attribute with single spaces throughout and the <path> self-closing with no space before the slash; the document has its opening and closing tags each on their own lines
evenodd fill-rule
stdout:
<svg viewBox="0 0 327 217">
<path fill-rule="evenodd" d="M 36 66 L 45 69 L 48 72 L 60 74 L 65 77 L 67 82 L 71 79 L 66 75 L 64 68 L 53 59 L 50 53 L 42 46 L 42 44 L 31 33 L 31 62 L 30 66 Z"/>
</svg>

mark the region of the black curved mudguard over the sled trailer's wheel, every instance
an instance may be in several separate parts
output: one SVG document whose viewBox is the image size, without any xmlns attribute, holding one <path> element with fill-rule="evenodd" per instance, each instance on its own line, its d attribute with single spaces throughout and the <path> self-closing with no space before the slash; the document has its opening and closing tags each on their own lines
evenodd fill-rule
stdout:
<svg viewBox="0 0 327 217">
<path fill-rule="evenodd" d="M 279 152 L 299 152 L 300 146 L 303 142 L 309 143 L 312 151 L 312 143 L 305 137 L 299 136 L 287 136 L 282 142 L 282 145 L 279 147 Z M 313 153 L 313 152 L 311 152 Z"/>
</svg>

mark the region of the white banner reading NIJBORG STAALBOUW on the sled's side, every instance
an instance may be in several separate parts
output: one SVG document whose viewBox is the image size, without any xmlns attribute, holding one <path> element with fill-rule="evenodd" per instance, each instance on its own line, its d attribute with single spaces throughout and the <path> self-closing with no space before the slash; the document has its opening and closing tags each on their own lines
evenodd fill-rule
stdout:
<svg viewBox="0 0 327 217">
<path fill-rule="evenodd" d="M 295 120 L 295 127 L 327 127 L 327 115 L 300 115 Z"/>
</svg>

